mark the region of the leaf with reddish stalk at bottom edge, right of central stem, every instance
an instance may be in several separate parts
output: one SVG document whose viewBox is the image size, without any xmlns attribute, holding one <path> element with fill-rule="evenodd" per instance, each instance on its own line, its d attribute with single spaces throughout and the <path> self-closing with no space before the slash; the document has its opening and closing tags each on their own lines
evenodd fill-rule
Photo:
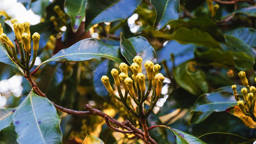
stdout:
<svg viewBox="0 0 256 144">
<path fill-rule="evenodd" d="M 199 138 L 187 134 L 185 132 L 182 132 L 180 130 L 168 127 L 168 126 L 163 126 L 163 125 L 158 125 L 157 127 L 163 127 L 163 128 L 167 128 L 169 130 L 171 130 L 173 132 L 173 134 L 175 135 L 176 138 L 176 143 L 205 143 L 202 140 L 200 140 Z"/>
</svg>

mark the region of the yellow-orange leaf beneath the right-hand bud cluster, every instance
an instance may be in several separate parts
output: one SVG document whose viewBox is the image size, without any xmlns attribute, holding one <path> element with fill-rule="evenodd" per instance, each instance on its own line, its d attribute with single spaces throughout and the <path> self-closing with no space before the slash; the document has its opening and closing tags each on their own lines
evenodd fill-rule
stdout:
<svg viewBox="0 0 256 144">
<path fill-rule="evenodd" d="M 254 107 L 254 111 L 256 110 L 256 107 Z M 226 112 L 234 115 L 234 116 L 237 116 L 238 118 L 240 118 L 243 122 L 244 122 L 244 125 L 246 127 L 249 127 L 251 129 L 256 129 L 256 122 L 254 122 L 252 120 L 252 118 L 250 116 L 246 116 L 240 109 L 239 106 L 232 106 L 230 108 L 227 108 L 226 109 Z"/>
</svg>

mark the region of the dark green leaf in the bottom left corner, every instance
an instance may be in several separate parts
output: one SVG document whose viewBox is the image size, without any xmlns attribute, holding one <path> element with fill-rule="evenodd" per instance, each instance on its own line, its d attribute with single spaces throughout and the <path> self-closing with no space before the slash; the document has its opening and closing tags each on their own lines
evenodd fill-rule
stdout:
<svg viewBox="0 0 256 144">
<path fill-rule="evenodd" d="M 8 126 L 0 131 L 0 144 L 16 144 L 18 143 L 16 141 L 17 134 L 14 131 L 13 125 Z"/>
</svg>

